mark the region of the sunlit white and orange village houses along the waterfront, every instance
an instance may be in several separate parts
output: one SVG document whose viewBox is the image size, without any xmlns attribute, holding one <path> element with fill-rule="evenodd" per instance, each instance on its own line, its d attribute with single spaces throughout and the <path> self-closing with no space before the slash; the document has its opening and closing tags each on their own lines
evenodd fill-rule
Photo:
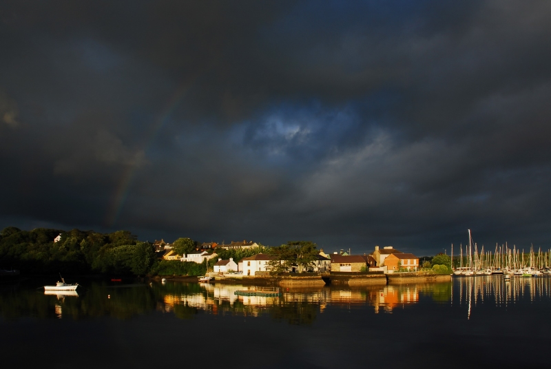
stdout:
<svg viewBox="0 0 551 369">
<path fill-rule="evenodd" d="M 172 244 L 164 240 L 155 240 L 154 247 L 160 259 L 180 260 L 180 262 L 203 263 L 205 260 L 211 260 L 218 257 L 217 251 L 220 250 L 247 250 L 260 249 L 260 245 L 253 241 L 231 242 L 230 244 L 217 244 L 216 242 L 204 242 L 198 244 L 196 250 L 191 253 L 178 255 L 173 249 Z M 254 277 L 269 275 L 273 269 L 273 261 L 277 257 L 266 253 L 257 253 L 249 257 L 243 257 L 241 260 L 222 260 L 214 264 L 214 273 L 218 275 L 231 275 L 232 277 Z M 358 272 L 378 272 L 395 273 L 397 271 L 417 271 L 419 269 L 419 257 L 412 253 L 402 253 L 393 246 L 375 246 L 372 253 L 363 255 L 350 255 L 350 251 L 334 251 L 325 253 L 320 249 L 315 255 L 307 272 L 315 273 L 358 273 Z M 298 266 L 291 265 L 285 270 L 289 273 L 298 271 Z"/>
</svg>

